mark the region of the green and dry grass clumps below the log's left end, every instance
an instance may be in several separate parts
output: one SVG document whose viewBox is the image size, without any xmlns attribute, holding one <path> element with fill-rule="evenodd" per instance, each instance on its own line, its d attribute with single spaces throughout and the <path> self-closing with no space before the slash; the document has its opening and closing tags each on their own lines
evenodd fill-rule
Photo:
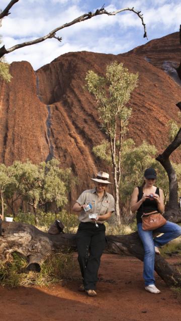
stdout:
<svg viewBox="0 0 181 321">
<path fill-rule="evenodd" d="M 72 253 L 57 253 L 41 265 L 41 271 L 24 273 L 27 262 L 17 253 L 13 253 L 11 262 L 0 262 L 0 284 L 2 286 L 18 287 L 28 285 L 48 286 L 68 277 L 74 267 Z"/>
</svg>

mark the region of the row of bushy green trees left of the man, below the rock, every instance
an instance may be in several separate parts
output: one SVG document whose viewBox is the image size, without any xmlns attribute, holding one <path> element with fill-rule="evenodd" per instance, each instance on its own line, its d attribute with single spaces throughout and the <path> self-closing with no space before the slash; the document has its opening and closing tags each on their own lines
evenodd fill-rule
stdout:
<svg viewBox="0 0 181 321">
<path fill-rule="evenodd" d="M 0 165 L 1 196 L 12 210 L 14 202 L 22 199 L 32 206 L 35 216 L 46 204 L 54 204 L 54 212 L 62 209 L 74 181 L 71 169 L 60 169 L 56 159 L 39 165 L 30 161 L 16 161 L 9 167 Z"/>
</svg>

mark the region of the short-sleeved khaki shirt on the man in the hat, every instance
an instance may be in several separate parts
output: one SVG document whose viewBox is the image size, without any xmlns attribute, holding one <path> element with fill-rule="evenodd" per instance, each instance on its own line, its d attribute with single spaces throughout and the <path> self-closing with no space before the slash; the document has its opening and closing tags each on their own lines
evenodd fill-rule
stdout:
<svg viewBox="0 0 181 321">
<path fill-rule="evenodd" d="M 91 203 L 92 209 L 85 212 L 83 209 L 78 215 L 78 219 L 80 222 L 91 222 L 95 223 L 91 219 L 89 219 L 88 214 L 98 214 L 98 215 L 104 215 L 108 212 L 114 212 L 115 211 L 115 200 L 114 197 L 105 192 L 103 198 L 99 200 L 98 194 L 96 192 L 96 188 L 93 190 L 86 190 L 84 191 L 79 198 L 76 200 L 76 203 L 79 205 L 83 204 L 89 204 Z M 98 223 L 104 223 L 104 221 L 97 221 Z"/>
</svg>

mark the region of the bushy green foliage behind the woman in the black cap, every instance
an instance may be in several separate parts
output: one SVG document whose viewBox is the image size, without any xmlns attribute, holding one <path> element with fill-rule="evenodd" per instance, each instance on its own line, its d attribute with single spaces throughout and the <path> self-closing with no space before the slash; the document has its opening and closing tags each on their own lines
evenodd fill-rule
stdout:
<svg viewBox="0 0 181 321">
<path fill-rule="evenodd" d="M 104 159 L 107 164 L 111 165 L 111 151 L 109 142 L 103 142 L 93 148 L 97 157 Z M 163 190 L 165 201 L 168 197 L 169 182 L 163 167 L 155 160 L 157 153 L 154 145 L 143 141 L 139 146 L 135 145 L 133 139 L 129 138 L 123 142 L 122 162 L 121 162 L 121 183 L 120 196 L 122 204 L 125 204 L 130 198 L 133 188 L 143 183 L 143 173 L 148 167 L 153 167 L 158 173 L 157 185 Z M 181 179 L 181 166 L 173 164 L 178 179 Z M 181 180 L 179 180 L 180 182 Z M 181 183 L 180 183 L 181 184 Z M 180 186 L 181 187 L 181 186 Z"/>
</svg>

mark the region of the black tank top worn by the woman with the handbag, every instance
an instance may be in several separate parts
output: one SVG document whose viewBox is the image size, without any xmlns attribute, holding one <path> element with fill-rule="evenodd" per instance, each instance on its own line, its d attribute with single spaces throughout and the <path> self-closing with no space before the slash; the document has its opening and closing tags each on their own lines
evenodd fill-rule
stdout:
<svg viewBox="0 0 181 321">
<path fill-rule="evenodd" d="M 143 196 L 143 188 L 142 186 L 138 186 L 138 201 L 141 200 L 142 196 Z M 156 188 L 156 192 L 155 194 L 159 195 L 159 188 Z M 155 200 L 150 200 L 150 199 L 146 199 L 141 206 L 139 207 L 139 209 L 137 210 L 136 213 L 136 220 L 137 220 L 137 224 L 138 223 L 142 223 L 142 219 L 141 216 L 143 213 L 149 213 L 149 212 L 153 212 L 153 211 L 158 211 L 158 206 Z"/>
</svg>

